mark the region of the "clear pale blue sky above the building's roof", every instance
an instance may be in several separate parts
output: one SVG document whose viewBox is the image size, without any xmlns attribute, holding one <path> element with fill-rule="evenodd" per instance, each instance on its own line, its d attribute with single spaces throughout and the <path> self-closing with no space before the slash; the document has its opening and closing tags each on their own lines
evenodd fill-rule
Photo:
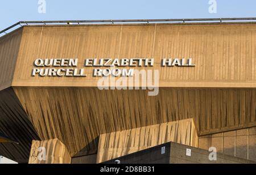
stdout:
<svg viewBox="0 0 256 175">
<path fill-rule="evenodd" d="M 46 2 L 46 13 L 38 11 Z M 256 17 L 255 0 L 1 0 L 0 30 L 20 20 L 167 19 Z"/>
</svg>

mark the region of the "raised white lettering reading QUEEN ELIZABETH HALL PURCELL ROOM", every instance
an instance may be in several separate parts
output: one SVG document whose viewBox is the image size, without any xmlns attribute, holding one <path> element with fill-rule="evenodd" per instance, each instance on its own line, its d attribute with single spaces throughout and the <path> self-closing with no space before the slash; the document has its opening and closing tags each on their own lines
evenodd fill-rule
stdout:
<svg viewBox="0 0 256 175">
<path fill-rule="evenodd" d="M 164 58 L 160 63 L 162 67 L 195 67 L 192 58 Z M 36 59 L 32 69 L 32 76 L 86 76 L 84 68 L 78 69 L 78 59 Z M 93 76 L 133 76 L 134 69 L 119 69 L 117 67 L 153 67 L 154 58 L 102 58 L 85 59 L 84 67 L 114 67 L 114 69 L 93 69 Z M 52 68 L 54 67 L 54 68 Z"/>
</svg>

